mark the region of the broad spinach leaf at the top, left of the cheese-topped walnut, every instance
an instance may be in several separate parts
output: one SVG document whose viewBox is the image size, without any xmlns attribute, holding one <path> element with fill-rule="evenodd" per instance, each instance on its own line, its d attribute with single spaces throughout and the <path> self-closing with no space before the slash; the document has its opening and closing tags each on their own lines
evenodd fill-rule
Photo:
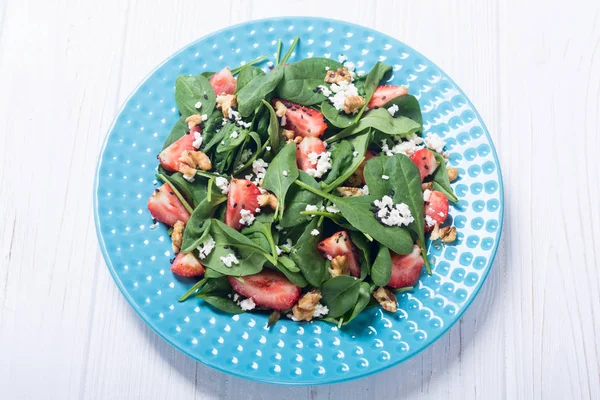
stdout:
<svg viewBox="0 0 600 400">
<path fill-rule="evenodd" d="M 277 85 L 277 94 L 305 106 L 321 103 L 326 98 L 315 89 L 319 85 L 326 85 L 326 68 L 336 70 L 341 66 L 339 62 L 328 58 L 306 58 L 292 63 L 284 69 L 284 78 Z"/>
</svg>

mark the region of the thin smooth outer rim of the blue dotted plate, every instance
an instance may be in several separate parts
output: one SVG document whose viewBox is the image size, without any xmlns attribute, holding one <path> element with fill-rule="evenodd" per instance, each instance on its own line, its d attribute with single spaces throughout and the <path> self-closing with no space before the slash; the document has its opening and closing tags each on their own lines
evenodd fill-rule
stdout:
<svg viewBox="0 0 600 400">
<path fill-rule="evenodd" d="M 171 60 L 173 57 L 176 57 L 177 55 L 181 54 L 182 52 L 184 52 L 186 49 L 188 49 L 190 46 L 193 46 L 194 44 L 205 40 L 207 38 L 216 36 L 221 34 L 222 32 L 229 30 L 231 28 L 237 28 L 237 27 L 241 27 L 243 25 L 246 25 L 248 23 L 260 23 L 260 22 L 266 22 L 266 21 L 273 21 L 273 22 L 280 22 L 282 20 L 317 20 L 317 21 L 332 21 L 332 22 L 339 22 L 339 23 L 343 23 L 343 24 L 347 24 L 348 26 L 353 26 L 353 27 L 357 27 L 357 28 L 361 28 L 361 29 L 368 29 L 368 30 L 372 30 L 377 32 L 378 34 L 390 39 L 390 40 L 394 40 L 394 41 L 398 41 L 400 43 L 402 43 L 402 45 L 406 46 L 408 49 L 410 49 L 411 51 L 413 51 L 415 54 L 419 55 L 420 57 L 424 58 L 425 60 L 429 61 L 430 63 L 432 63 L 433 65 L 435 65 L 444 75 L 445 77 L 452 82 L 452 84 L 457 88 L 457 90 L 465 96 L 465 99 L 467 100 L 468 104 L 471 106 L 472 111 L 475 113 L 475 116 L 477 117 L 477 119 L 479 120 L 479 122 L 481 123 L 481 126 L 483 128 L 483 131 L 485 133 L 486 138 L 488 139 L 489 143 L 491 144 L 491 153 L 494 157 L 494 161 L 496 163 L 496 167 L 497 167 L 497 171 L 498 171 L 498 186 L 499 186 L 499 198 L 500 198 L 500 207 L 499 207 L 499 216 L 498 216 L 498 236 L 497 236 L 497 240 L 494 243 L 494 247 L 492 248 L 491 251 L 491 255 L 489 257 L 489 268 L 486 269 L 486 271 L 484 271 L 482 278 L 481 278 L 481 282 L 480 284 L 477 286 L 477 288 L 474 290 L 473 292 L 473 296 L 470 296 L 470 298 L 464 303 L 463 307 L 461 307 L 461 309 L 459 310 L 459 312 L 456 313 L 456 318 L 447 326 L 444 326 L 443 329 L 440 330 L 440 332 L 433 338 L 433 340 L 426 346 L 420 348 L 418 351 L 416 351 L 415 353 L 411 354 L 409 357 L 401 359 L 401 360 L 397 360 L 395 362 L 391 362 L 389 364 L 385 364 L 385 365 L 381 365 L 378 368 L 372 369 L 372 370 L 368 370 L 367 372 L 364 373 L 359 373 L 358 375 L 355 376 L 349 376 L 349 377 L 341 377 L 341 378 L 333 378 L 330 380 L 323 380 L 320 382 L 290 382 L 290 381 L 286 381 L 286 380 L 273 380 L 273 379 L 266 379 L 262 376 L 256 376 L 256 377 L 249 377 L 247 375 L 243 375 L 235 370 L 228 370 L 225 368 L 220 367 L 219 365 L 210 363 L 207 360 L 202 360 L 198 357 L 196 357 L 192 352 L 188 351 L 187 349 L 183 348 L 182 346 L 180 346 L 178 343 L 176 343 L 175 341 L 170 340 L 167 336 L 165 336 L 162 331 L 160 329 L 158 329 L 155 324 L 149 319 L 149 318 L 145 318 L 144 317 L 144 313 L 142 312 L 141 308 L 134 302 L 134 300 L 131 298 L 131 296 L 129 295 L 129 292 L 125 289 L 123 282 L 120 280 L 120 278 L 118 277 L 118 275 L 116 274 L 116 270 L 114 265 L 111 262 L 111 259 L 109 257 L 108 251 L 106 249 L 106 244 L 104 242 L 104 237 L 102 236 L 102 232 L 100 230 L 100 215 L 98 212 L 98 191 L 99 191 L 99 175 L 100 175 L 100 166 L 102 165 L 102 162 L 104 160 L 104 153 L 106 150 L 106 146 L 108 144 L 108 138 L 111 134 L 111 132 L 114 130 L 115 125 L 117 123 L 117 119 L 118 117 L 121 115 L 121 113 L 123 112 L 123 110 L 125 109 L 126 105 L 129 103 L 129 101 L 132 99 L 132 97 L 137 93 L 137 91 L 140 89 L 140 87 L 157 71 L 159 70 L 163 65 L 165 65 L 169 60 Z M 341 19 L 334 19 L 334 18 L 324 18 L 324 17 L 315 17 L 315 16 L 278 16 L 278 17 L 269 17 L 269 18 L 259 18 L 259 19 L 251 19 L 251 20 L 247 20 L 244 22 L 240 22 L 238 24 L 233 24 L 233 25 L 228 25 L 224 28 L 221 28 L 219 30 L 216 30 L 214 32 L 211 32 L 207 35 L 204 35 L 186 45 L 184 45 L 183 47 L 181 47 L 179 50 L 175 51 L 174 53 L 171 53 L 169 56 L 167 56 L 165 59 L 163 59 L 159 64 L 157 64 L 148 74 L 146 74 L 140 81 L 139 83 L 131 90 L 131 92 L 129 93 L 129 95 L 127 96 L 127 98 L 123 101 L 123 103 L 120 105 L 120 107 L 118 108 L 117 112 L 115 113 L 115 117 L 113 118 L 112 123 L 110 124 L 108 130 L 106 131 L 105 135 L 104 135 L 104 140 L 102 143 L 102 146 L 100 147 L 100 152 L 98 155 L 98 159 L 96 161 L 96 172 L 94 174 L 94 185 L 93 185 L 93 211 L 94 211 L 94 226 L 96 229 L 96 236 L 98 237 L 98 243 L 100 245 L 100 250 L 102 252 L 102 257 L 104 259 L 104 262 L 113 278 L 113 280 L 115 281 L 115 284 L 117 285 L 117 287 L 119 288 L 119 291 L 121 292 L 121 294 L 125 297 L 125 299 L 127 300 L 127 302 L 129 303 L 129 305 L 133 308 L 133 310 L 135 311 L 135 313 L 137 314 L 137 316 L 154 332 L 156 333 L 159 337 L 161 337 L 165 342 L 167 342 L 170 346 L 174 347 L 175 349 L 177 349 L 178 351 L 180 351 L 181 353 L 185 354 L 186 356 L 190 357 L 191 359 L 193 359 L 196 362 L 199 362 L 207 367 L 213 368 L 217 371 L 223 372 L 225 374 L 231 375 L 231 376 L 235 376 L 237 378 L 241 378 L 241 379 L 245 379 L 247 381 L 251 381 L 251 382 L 259 382 L 259 383 L 263 383 L 263 384 L 272 384 L 272 385 L 279 385 L 279 386 L 321 386 L 321 385 L 332 385 L 332 384 L 339 384 L 339 383 L 343 383 L 343 382 L 349 382 L 349 381 L 354 381 L 354 380 L 358 380 L 358 379 L 362 379 L 362 378 L 366 378 L 372 375 L 375 375 L 377 373 L 380 373 L 384 370 L 387 369 L 391 369 L 393 367 L 396 367 L 402 363 L 407 362 L 408 360 L 414 358 L 415 356 L 417 356 L 418 354 L 420 354 L 422 351 L 424 351 L 425 349 L 430 348 L 435 342 L 437 342 L 443 335 L 445 335 L 459 320 L 462 319 L 464 313 L 467 311 L 467 309 L 469 309 L 469 307 L 471 306 L 471 304 L 473 303 L 473 301 L 475 300 L 475 298 L 479 295 L 479 292 L 481 291 L 481 289 L 483 288 L 483 286 L 485 285 L 488 275 L 492 269 L 492 267 L 494 266 L 494 261 L 496 259 L 496 253 L 498 251 L 498 246 L 501 242 L 502 239 L 502 232 L 503 232 L 503 227 L 504 227 L 504 180 L 502 178 L 502 168 L 500 165 L 500 159 L 498 158 L 498 154 L 496 152 L 496 146 L 492 140 L 492 137 L 490 136 L 489 130 L 487 128 L 487 125 L 485 124 L 485 121 L 483 120 L 483 118 L 481 118 L 481 115 L 479 114 L 479 111 L 477 111 L 477 108 L 475 107 L 475 105 L 473 104 L 473 102 L 471 101 L 471 99 L 469 98 L 469 96 L 466 95 L 466 93 L 464 92 L 464 90 L 454 81 L 454 79 L 452 79 L 452 77 L 450 77 L 442 68 L 440 68 L 438 66 L 438 64 L 434 63 L 433 61 L 431 61 L 431 59 L 429 57 L 426 57 L 425 55 L 423 55 L 422 53 L 420 53 L 419 51 L 415 50 L 412 46 L 409 46 L 408 44 L 406 44 L 405 42 L 403 42 L 400 39 L 397 39 L 391 35 L 388 35 L 386 33 L 383 33 L 375 28 L 371 28 L 369 26 L 364 26 L 364 25 L 360 25 L 360 24 L 356 24 L 353 22 L 349 22 L 346 20 L 341 20 Z"/>
</svg>

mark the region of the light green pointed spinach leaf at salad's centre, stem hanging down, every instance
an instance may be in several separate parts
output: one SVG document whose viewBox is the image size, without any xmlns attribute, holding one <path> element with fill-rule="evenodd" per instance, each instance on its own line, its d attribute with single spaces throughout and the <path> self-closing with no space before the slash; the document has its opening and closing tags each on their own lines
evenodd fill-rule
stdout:
<svg viewBox="0 0 600 400">
<path fill-rule="evenodd" d="M 296 143 L 287 145 L 275 156 L 263 179 L 262 187 L 273 192 L 278 199 L 279 215 L 283 215 L 285 195 L 289 187 L 298 178 L 296 165 Z"/>
</svg>

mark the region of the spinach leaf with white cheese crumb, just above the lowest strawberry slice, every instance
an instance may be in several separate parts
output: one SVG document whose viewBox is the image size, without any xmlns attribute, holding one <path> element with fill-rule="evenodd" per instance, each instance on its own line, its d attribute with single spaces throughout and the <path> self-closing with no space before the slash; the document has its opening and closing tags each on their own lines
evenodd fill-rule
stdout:
<svg viewBox="0 0 600 400">
<path fill-rule="evenodd" d="M 262 270 L 264 263 L 275 261 L 258 244 L 225 225 L 218 219 L 212 219 L 210 235 L 215 241 L 215 248 L 204 259 L 203 265 L 225 275 L 243 276 L 256 274 Z M 236 255 L 237 264 L 227 267 L 221 257 Z"/>
</svg>

